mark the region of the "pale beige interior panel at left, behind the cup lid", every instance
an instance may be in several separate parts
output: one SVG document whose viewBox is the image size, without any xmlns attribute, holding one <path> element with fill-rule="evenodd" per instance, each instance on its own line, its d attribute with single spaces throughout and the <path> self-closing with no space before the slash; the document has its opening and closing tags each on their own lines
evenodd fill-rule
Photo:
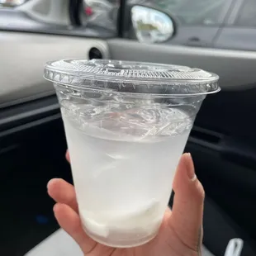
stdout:
<svg viewBox="0 0 256 256">
<path fill-rule="evenodd" d="M 87 59 L 93 47 L 101 50 L 103 58 L 109 57 L 104 40 L 83 37 L 1 31 L 0 45 L 0 107 L 53 94 L 52 84 L 43 78 L 46 61 Z"/>
</svg>

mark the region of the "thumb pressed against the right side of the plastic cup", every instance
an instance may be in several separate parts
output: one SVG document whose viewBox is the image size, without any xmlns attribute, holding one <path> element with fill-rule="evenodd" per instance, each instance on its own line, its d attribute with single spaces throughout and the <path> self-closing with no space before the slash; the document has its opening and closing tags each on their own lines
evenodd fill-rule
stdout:
<svg viewBox="0 0 256 256">
<path fill-rule="evenodd" d="M 184 244 L 198 251 L 201 249 L 205 192 L 195 174 L 191 154 L 183 154 L 174 178 L 173 190 L 173 230 Z"/>
</svg>

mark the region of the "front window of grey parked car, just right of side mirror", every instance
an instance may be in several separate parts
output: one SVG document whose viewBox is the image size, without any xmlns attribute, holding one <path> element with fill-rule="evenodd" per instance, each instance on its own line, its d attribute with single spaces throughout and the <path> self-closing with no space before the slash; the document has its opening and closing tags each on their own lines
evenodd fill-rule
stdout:
<svg viewBox="0 0 256 256">
<path fill-rule="evenodd" d="M 230 7 L 228 0 L 151 0 L 145 2 L 164 9 L 187 26 L 219 25 Z"/>
</svg>

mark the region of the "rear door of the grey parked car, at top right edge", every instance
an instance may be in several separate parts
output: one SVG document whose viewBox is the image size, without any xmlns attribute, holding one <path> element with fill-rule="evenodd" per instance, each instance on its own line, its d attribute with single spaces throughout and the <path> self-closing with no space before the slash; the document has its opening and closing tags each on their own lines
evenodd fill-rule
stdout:
<svg viewBox="0 0 256 256">
<path fill-rule="evenodd" d="M 216 39 L 218 48 L 256 50 L 256 2 L 237 1 L 225 26 Z"/>
</svg>

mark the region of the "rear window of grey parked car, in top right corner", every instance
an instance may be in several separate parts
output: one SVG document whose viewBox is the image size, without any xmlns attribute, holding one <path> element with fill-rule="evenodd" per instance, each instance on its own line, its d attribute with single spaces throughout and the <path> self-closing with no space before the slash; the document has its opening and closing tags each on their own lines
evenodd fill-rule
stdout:
<svg viewBox="0 0 256 256">
<path fill-rule="evenodd" d="M 236 26 L 256 27 L 256 1 L 245 0 L 235 21 Z"/>
</svg>

